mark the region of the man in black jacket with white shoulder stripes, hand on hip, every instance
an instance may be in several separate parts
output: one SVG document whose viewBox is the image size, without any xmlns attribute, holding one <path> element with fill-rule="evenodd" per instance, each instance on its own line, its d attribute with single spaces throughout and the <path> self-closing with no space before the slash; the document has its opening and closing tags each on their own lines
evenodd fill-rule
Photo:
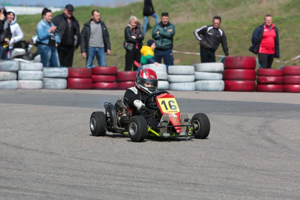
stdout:
<svg viewBox="0 0 300 200">
<path fill-rule="evenodd" d="M 214 52 L 219 44 L 222 44 L 224 54 L 229 54 L 225 32 L 219 28 L 221 17 L 214 16 L 212 25 L 204 25 L 194 31 L 197 40 L 200 41 L 201 62 L 215 62 Z M 199 35 L 202 34 L 202 37 Z"/>
</svg>

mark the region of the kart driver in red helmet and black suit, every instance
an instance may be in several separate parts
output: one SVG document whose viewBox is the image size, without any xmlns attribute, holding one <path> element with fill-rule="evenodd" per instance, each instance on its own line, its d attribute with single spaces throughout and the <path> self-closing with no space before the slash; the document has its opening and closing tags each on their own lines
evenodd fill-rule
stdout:
<svg viewBox="0 0 300 200">
<path fill-rule="evenodd" d="M 128 104 L 132 111 L 132 116 L 141 115 L 146 119 L 146 122 L 150 126 L 165 126 L 169 123 L 168 114 L 163 114 L 160 122 L 158 123 L 153 117 L 155 110 L 145 107 L 144 100 L 148 94 L 156 91 L 158 85 L 157 75 L 154 70 L 149 68 L 140 69 L 135 76 L 135 86 L 130 87 L 125 91 L 124 102 Z M 155 97 L 149 99 L 150 102 L 154 102 Z M 180 113 L 180 123 L 188 124 L 188 121 L 184 120 L 188 118 L 187 113 Z M 168 134 L 167 127 L 162 127 L 161 133 Z M 186 126 L 181 127 L 181 132 L 185 134 Z"/>
</svg>

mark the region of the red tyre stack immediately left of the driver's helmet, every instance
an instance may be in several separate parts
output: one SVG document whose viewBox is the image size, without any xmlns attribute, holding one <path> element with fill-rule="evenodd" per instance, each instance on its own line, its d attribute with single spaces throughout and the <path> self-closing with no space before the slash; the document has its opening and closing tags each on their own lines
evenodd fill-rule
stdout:
<svg viewBox="0 0 300 200">
<path fill-rule="evenodd" d="M 135 86 L 136 71 L 118 71 L 116 73 L 117 89 Z"/>
</svg>

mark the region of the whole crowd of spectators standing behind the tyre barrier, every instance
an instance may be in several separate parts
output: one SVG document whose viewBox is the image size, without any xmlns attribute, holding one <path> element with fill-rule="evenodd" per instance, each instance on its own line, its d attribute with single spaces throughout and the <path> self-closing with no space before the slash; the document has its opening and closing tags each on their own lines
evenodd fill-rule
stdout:
<svg viewBox="0 0 300 200">
<path fill-rule="evenodd" d="M 101 20 L 99 10 L 91 11 L 91 18 L 84 23 L 81 31 L 78 20 L 73 16 L 74 7 L 65 5 L 63 13 L 52 17 L 52 12 L 44 8 L 41 20 L 36 25 L 36 46 L 44 67 L 68 66 L 73 64 L 74 51 L 79 48 L 85 67 L 92 66 L 96 57 L 99 66 L 106 66 L 105 53 L 111 53 L 109 32 Z M 143 45 L 148 17 L 155 18 L 151 31 L 152 39 Z M 0 4 L 0 59 L 10 59 L 10 51 L 24 35 L 16 22 L 14 10 L 6 10 Z M 224 54 L 229 55 L 224 30 L 220 28 L 221 17 L 214 16 L 212 25 L 203 25 L 193 34 L 200 44 L 201 62 L 215 62 L 215 51 L 222 45 Z M 173 65 L 173 37 L 175 25 L 169 21 L 168 12 L 162 12 L 160 21 L 154 11 L 151 0 L 144 0 L 143 24 L 136 16 L 130 16 L 124 28 L 125 67 L 124 70 L 136 70 L 140 65 L 161 63 Z M 256 27 L 252 34 L 252 46 L 249 51 L 258 54 L 262 68 L 271 68 L 273 58 L 279 58 L 278 29 L 267 14 L 263 24 Z"/>
</svg>

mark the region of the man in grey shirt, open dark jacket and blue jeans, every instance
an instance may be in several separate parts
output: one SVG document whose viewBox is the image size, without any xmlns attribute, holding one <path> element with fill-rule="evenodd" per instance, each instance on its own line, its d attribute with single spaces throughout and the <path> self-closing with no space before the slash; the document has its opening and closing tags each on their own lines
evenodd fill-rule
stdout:
<svg viewBox="0 0 300 200">
<path fill-rule="evenodd" d="M 105 52 L 110 54 L 109 33 L 98 10 L 92 10 L 91 19 L 83 25 L 80 50 L 81 56 L 86 57 L 86 67 L 92 65 L 95 55 L 98 65 L 106 66 Z"/>
</svg>

